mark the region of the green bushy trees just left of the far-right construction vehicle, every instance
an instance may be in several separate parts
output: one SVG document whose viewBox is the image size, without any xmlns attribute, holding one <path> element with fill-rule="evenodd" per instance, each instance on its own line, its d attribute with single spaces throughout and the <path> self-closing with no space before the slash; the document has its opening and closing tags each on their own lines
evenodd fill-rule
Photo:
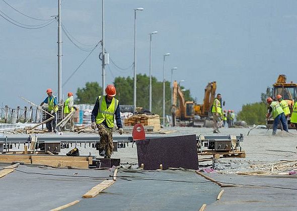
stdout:
<svg viewBox="0 0 297 211">
<path fill-rule="evenodd" d="M 264 102 L 255 102 L 243 105 L 236 119 L 246 121 L 248 125 L 265 125 L 266 113 L 267 104 Z"/>
</svg>

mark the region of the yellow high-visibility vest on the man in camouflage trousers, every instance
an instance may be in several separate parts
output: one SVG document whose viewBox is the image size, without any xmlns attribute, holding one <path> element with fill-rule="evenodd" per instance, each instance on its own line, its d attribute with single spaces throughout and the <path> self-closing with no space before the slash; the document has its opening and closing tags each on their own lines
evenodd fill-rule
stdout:
<svg viewBox="0 0 297 211">
<path fill-rule="evenodd" d="M 105 95 L 99 96 L 98 101 L 98 114 L 96 117 L 96 124 L 101 124 L 105 120 L 107 126 L 109 128 L 113 128 L 114 113 L 116 108 L 118 107 L 119 100 L 113 97 L 108 108 L 105 101 Z"/>
</svg>

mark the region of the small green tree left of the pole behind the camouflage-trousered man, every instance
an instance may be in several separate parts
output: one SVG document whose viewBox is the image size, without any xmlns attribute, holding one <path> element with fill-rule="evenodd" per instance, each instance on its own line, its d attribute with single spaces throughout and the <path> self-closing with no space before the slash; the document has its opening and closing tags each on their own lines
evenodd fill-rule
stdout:
<svg viewBox="0 0 297 211">
<path fill-rule="evenodd" d="M 77 98 L 75 103 L 84 104 L 91 103 L 94 104 L 97 97 L 101 95 L 102 87 L 99 86 L 98 82 L 87 82 L 86 86 L 83 88 L 78 88 Z"/>
</svg>

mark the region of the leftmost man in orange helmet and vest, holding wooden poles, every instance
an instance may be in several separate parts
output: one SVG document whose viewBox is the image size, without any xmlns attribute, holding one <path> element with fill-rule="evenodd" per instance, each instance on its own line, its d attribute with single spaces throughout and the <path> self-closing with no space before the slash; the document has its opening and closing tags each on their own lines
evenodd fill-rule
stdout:
<svg viewBox="0 0 297 211">
<path fill-rule="evenodd" d="M 48 105 L 48 112 L 54 116 L 54 119 L 52 119 L 51 121 L 45 123 L 46 124 L 46 128 L 48 130 L 49 133 L 51 133 L 52 131 L 54 133 L 56 133 L 56 121 L 57 121 L 57 114 L 56 112 L 58 111 L 58 100 L 57 97 L 52 95 L 52 90 L 51 88 L 48 88 L 46 90 L 47 93 L 47 97 L 43 100 L 43 102 L 41 102 L 40 107 L 42 107 L 42 105 L 44 103 L 46 103 Z M 46 119 L 48 120 L 49 118 L 51 118 L 50 115 L 46 114 Z"/>
</svg>

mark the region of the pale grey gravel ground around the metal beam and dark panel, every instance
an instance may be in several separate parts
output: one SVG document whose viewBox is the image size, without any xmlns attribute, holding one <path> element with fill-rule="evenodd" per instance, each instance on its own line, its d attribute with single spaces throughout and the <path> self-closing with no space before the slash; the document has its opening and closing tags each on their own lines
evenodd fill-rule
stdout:
<svg viewBox="0 0 297 211">
<path fill-rule="evenodd" d="M 166 128 L 166 130 L 176 130 L 170 134 L 147 134 L 146 137 L 151 136 L 182 136 L 189 134 L 196 135 L 214 135 L 211 128 L 191 128 L 191 127 L 175 127 Z M 278 130 L 276 136 L 272 136 L 272 130 L 267 129 L 253 129 L 249 136 L 247 128 L 222 128 L 219 135 L 244 135 L 244 142 L 241 143 L 242 150 L 246 152 L 246 158 L 221 158 L 215 161 L 215 168 L 223 172 L 236 172 L 236 171 L 249 171 L 251 165 L 264 164 L 278 162 L 282 160 L 297 160 L 297 132 L 296 130 L 289 130 L 289 133 Z M 4 134 L 5 136 L 5 134 Z M 8 135 L 8 136 L 20 136 L 20 135 Z M 22 135 L 27 136 L 27 135 Z M 38 136 L 59 136 L 56 134 L 39 134 Z M 96 134 L 75 134 L 69 132 L 63 132 L 62 136 L 97 136 Z M 114 132 L 114 136 L 119 136 L 117 132 Z M 131 136 L 131 134 L 125 133 L 123 136 Z M 72 146 L 74 147 L 74 146 Z M 77 146 L 81 155 L 99 156 L 96 149 L 90 148 L 84 145 Z M 22 150 L 22 148 L 20 148 Z M 62 149 L 60 154 L 67 153 L 69 149 Z M 120 158 L 124 166 L 137 165 L 137 151 L 136 146 L 129 144 L 126 148 L 118 149 L 118 152 L 114 152 L 113 158 Z M 207 164 L 206 162 L 200 164 Z M 210 164 L 210 163 L 208 163 Z"/>
</svg>

